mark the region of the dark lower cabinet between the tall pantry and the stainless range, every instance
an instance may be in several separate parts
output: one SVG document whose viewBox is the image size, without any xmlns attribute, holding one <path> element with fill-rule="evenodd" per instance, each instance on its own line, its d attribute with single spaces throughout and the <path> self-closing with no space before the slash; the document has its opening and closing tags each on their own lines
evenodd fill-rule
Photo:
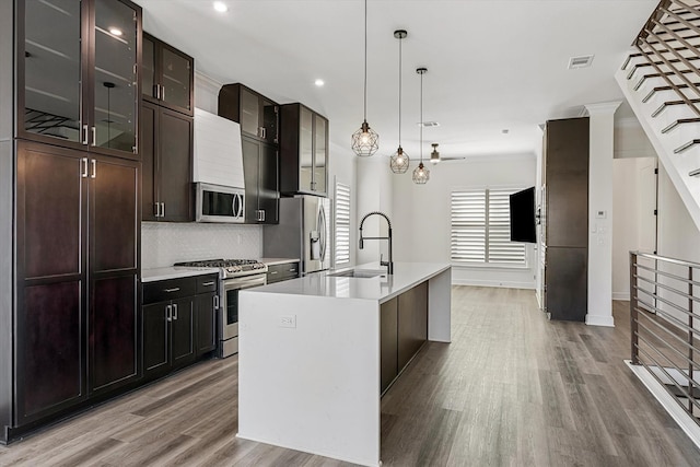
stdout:
<svg viewBox="0 0 700 467">
<path fill-rule="evenodd" d="M 215 349 L 217 281 L 212 275 L 143 284 L 147 378 L 187 365 Z"/>
</svg>

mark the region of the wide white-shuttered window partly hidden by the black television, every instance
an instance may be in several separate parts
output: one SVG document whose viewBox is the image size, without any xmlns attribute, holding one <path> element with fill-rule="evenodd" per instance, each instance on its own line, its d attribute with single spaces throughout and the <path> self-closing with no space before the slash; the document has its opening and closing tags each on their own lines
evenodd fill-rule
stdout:
<svg viewBox="0 0 700 467">
<path fill-rule="evenodd" d="M 525 245 L 511 242 L 509 196 L 514 189 L 452 192 L 452 255 L 455 262 L 525 266 Z"/>
</svg>

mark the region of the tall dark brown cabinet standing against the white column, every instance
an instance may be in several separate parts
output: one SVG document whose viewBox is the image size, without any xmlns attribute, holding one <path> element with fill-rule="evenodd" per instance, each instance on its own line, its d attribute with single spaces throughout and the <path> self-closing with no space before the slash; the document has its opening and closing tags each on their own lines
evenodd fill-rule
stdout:
<svg viewBox="0 0 700 467">
<path fill-rule="evenodd" d="M 545 128 L 544 310 L 551 319 L 585 320 L 588 308 L 588 118 Z"/>
</svg>

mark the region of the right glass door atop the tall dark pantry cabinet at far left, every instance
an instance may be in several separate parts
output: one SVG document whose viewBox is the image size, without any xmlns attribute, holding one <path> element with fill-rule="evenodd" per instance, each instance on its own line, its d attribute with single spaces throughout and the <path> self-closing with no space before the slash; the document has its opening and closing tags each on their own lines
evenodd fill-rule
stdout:
<svg viewBox="0 0 700 467">
<path fill-rule="evenodd" d="M 128 4 L 94 0 L 92 147 L 136 153 L 138 26 Z"/>
</svg>

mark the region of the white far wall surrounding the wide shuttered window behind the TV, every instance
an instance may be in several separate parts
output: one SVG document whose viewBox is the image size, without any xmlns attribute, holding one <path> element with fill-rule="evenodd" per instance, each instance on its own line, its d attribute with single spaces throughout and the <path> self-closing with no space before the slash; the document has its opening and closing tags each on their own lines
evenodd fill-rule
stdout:
<svg viewBox="0 0 700 467">
<path fill-rule="evenodd" d="M 453 189 L 527 188 L 536 183 L 534 153 L 469 157 L 429 164 L 430 180 L 413 184 L 410 171 L 393 179 L 395 259 L 400 261 L 450 262 L 450 196 Z M 502 269 L 453 266 L 457 284 L 527 288 L 535 287 L 535 255 L 527 246 L 528 267 Z"/>
</svg>

